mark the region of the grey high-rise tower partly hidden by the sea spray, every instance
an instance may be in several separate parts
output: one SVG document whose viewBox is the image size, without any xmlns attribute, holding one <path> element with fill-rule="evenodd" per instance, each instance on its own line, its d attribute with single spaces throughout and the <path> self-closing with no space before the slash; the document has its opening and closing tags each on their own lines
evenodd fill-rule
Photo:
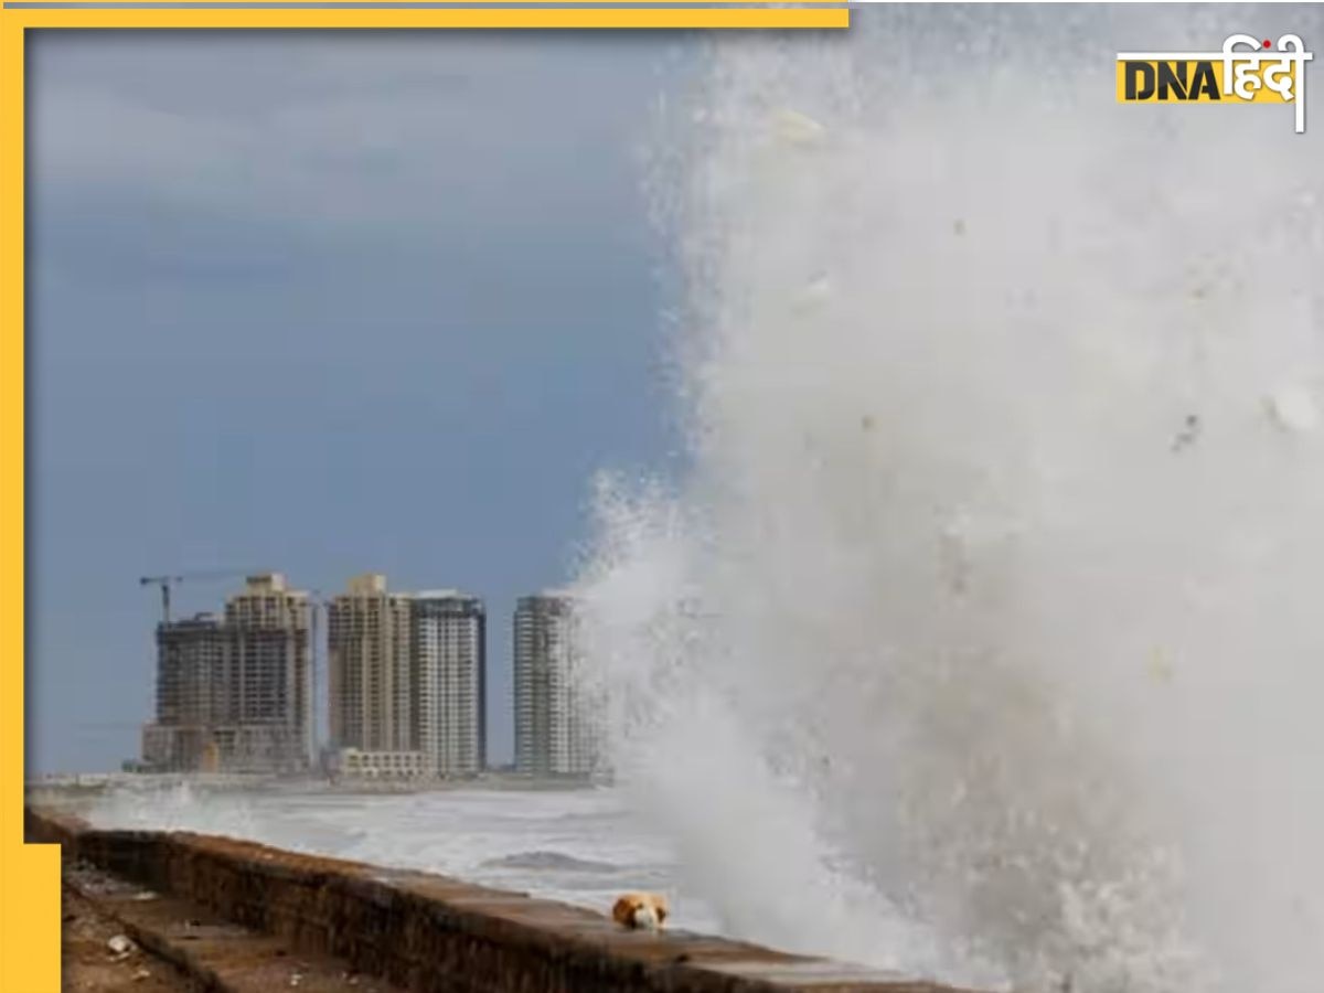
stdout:
<svg viewBox="0 0 1324 993">
<path fill-rule="evenodd" d="M 559 592 L 515 609 L 515 768 L 531 776 L 600 771 L 600 700 L 585 678 L 575 601 Z"/>
</svg>

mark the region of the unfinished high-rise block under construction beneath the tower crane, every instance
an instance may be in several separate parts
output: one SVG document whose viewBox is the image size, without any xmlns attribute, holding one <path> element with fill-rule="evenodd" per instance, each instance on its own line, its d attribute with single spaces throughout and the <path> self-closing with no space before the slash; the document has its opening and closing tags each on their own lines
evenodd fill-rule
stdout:
<svg viewBox="0 0 1324 993">
<path fill-rule="evenodd" d="M 279 573 L 249 576 L 224 617 L 156 629 L 156 720 L 143 761 L 173 772 L 295 772 L 312 751 L 311 604 Z"/>
</svg>

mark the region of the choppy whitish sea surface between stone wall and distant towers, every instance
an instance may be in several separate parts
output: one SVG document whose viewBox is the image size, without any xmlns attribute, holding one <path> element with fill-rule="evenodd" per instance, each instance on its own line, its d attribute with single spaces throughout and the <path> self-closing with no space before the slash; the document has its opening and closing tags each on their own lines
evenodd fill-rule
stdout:
<svg viewBox="0 0 1324 993">
<path fill-rule="evenodd" d="M 679 886 L 674 847 L 624 800 L 610 789 L 356 794 L 144 782 L 109 789 L 86 817 L 441 873 L 604 914 L 622 892 L 651 890 L 671 899 L 675 927 L 720 933 L 712 908 Z"/>
</svg>

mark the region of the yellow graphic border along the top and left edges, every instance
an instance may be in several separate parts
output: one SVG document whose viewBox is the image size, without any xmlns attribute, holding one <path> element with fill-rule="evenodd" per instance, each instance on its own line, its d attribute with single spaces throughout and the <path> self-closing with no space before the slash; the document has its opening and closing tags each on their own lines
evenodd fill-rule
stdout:
<svg viewBox="0 0 1324 993">
<path fill-rule="evenodd" d="M 294 0 L 318 3 L 320 0 Z M 340 3 L 364 0 L 332 0 Z M 373 0 L 367 0 L 372 3 Z M 0 9 L 0 993 L 61 981 L 60 851 L 23 843 L 24 794 L 24 38 L 29 28 L 847 28 L 845 7 L 567 9 Z M 584 0 L 576 0 L 583 3 Z M 589 0 L 609 4 L 614 0 Z M 833 0 L 808 0 L 810 4 Z"/>
</svg>

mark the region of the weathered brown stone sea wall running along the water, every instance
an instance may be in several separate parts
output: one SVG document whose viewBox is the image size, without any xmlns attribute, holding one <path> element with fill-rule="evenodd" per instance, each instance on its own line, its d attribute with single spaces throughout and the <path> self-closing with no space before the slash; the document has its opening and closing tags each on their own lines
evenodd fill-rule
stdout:
<svg viewBox="0 0 1324 993">
<path fill-rule="evenodd" d="M 413 993 L 961 993 L 741 941 L 629 932 L 579 907 L 428 873 L 25 810 L 28 841 L 193 900 Z M 969 993 L 969 992 L 967 992 Z"/>
</svg>

